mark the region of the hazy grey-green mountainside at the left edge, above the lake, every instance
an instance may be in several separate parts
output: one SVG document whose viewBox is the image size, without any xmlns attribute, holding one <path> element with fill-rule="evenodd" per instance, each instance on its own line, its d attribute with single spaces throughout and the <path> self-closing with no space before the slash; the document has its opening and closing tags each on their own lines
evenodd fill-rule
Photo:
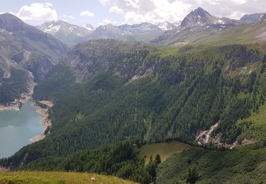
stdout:
<svg viewBox="0 0 266 184">
<path fill-rule="evenodd" d="M 57 64 L 67 46 L 9 13 L 0 15 L 0 103 L 10 102 L 28 92 L 35 82 Z"/>
</svg>

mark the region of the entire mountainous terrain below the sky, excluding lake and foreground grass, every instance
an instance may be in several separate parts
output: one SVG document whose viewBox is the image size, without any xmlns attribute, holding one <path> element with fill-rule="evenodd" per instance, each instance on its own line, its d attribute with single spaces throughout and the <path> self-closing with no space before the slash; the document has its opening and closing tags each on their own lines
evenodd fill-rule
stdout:
<svg viewBox="0 0 266 184">
<path fill-rule="evenodd" d="M 43 33 L 0 15 L 1 102 L 27 91 L 33 74 L 35 102 L 54 104 L 42 105 L 45 138 L 0 168 L 147 184 L 265 182 L 266 15 L 247 17 L 196 8 L 177 24 L 57 21 Z M 169 146 L 177 140 L 182 153 Z"/>
</svg>

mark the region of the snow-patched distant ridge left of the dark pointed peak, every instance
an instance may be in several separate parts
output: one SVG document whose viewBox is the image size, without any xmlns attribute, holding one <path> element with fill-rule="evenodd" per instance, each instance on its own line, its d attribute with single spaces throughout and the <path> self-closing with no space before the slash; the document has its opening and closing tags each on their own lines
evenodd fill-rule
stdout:
<svg viewBox="0 0 266 184">
<path fill-rule="evenodd" d="M 117 39 L 124 41 L 150 42 L 167 30 L 177 28 L 177 23 L 140 23 L 134 25 L 101 25 L 94 28 L 92 25 L 73 25 L 65 21 L 52 21 L 37 26 L 43 32 L 55 36 L 69 46 L 86 40 Z"/>
</svg>

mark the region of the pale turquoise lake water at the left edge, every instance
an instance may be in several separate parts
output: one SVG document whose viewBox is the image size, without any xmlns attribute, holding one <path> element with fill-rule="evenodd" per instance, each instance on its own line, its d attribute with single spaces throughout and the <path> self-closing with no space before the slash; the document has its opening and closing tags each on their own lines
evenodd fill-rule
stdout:
<svg viewBox="0 0 266 184">
<path fill-rule="evenodd" d="M 0 159 L 30 144 L 29 139 L 43 131 L 40 120 L 40 115 L 30 102 L 25 103 L 19 111 L 0 111 Z"/>
</svg>

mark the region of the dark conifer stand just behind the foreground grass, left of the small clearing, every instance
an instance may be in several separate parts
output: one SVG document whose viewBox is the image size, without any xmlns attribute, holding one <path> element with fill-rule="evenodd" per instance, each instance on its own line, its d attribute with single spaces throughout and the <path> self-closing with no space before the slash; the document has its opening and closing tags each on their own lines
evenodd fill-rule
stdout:
<svg viewBox="0 0 266 184">
<path fill-rule="evenodd" d="M 84 150 L 69 156 L 48 156 L 23 166 L 23 171 L 89 172 L 127 178 L 138 183 L 155 181 L 156 168 L 161 163 L 160 155 L 150 158 L 147 166 L 139 158 L 138 139 L 120 142 L 104 149 Z"/>
</svg>

